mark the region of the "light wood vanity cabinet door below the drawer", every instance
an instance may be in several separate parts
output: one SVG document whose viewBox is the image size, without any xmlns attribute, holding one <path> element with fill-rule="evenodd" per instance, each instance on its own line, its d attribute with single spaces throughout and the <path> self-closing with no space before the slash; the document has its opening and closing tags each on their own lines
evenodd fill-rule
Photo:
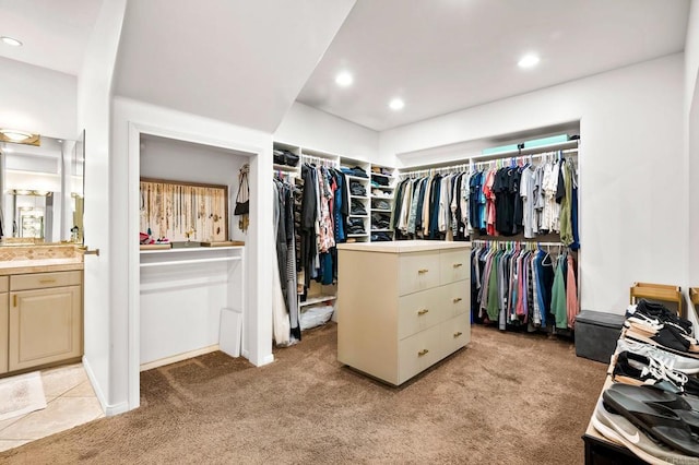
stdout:
<svg viewBox="0 0 699 465">
<path fill-rule="evenodd" d="M 81 286 L 10 293 L 10 371 L 82 355 Z"/>
</svg>

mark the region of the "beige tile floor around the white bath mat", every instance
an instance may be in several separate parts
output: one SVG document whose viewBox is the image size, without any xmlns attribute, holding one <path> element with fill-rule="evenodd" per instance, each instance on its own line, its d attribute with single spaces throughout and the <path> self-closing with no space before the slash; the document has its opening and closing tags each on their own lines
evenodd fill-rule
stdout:
<svg viewBox="0 0 699 465">
<path fill-rule="evenodd" d="M 0 451 L 105 416 L 82 363 L 42 370 L 46 408 L 0 421 Z"/>
</svg>

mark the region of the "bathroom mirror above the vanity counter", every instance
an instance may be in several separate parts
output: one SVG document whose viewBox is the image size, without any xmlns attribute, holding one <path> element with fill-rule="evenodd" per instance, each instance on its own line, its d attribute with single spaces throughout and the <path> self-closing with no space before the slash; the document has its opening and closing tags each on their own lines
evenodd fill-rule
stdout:
<svg viewBox="0 0 699 465">
<path fill-rule="evenodd" d="M 40 146 L 0 143 L 2 245 L 82 243 L 83 147 L 82 134 L 42 136 Z"/>
</svg>

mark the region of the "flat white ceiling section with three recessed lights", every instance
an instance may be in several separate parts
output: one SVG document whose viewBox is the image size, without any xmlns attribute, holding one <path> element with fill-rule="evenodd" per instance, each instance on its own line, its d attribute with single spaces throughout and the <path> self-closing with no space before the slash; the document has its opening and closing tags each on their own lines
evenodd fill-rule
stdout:
<svg viewBox="0 0 699 465">
<path fill-rule="evenodd" d="M 688 0 L 358 0 L 297 99 L 381 131 L 682 51 L 688 15 Z M 519 69 L 526 52 L 536 68 Z"/>
</svg>

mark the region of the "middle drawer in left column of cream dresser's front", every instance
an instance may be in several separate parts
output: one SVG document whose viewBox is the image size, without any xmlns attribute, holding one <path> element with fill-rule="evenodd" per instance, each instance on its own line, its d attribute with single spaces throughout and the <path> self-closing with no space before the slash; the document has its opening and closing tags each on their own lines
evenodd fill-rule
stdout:
<svg viewBox="0 0 699 465">
<path fill-rule="evenodd" d="M 399 297 L 398 301 L 398 338 L 404 339 L 419 331 L 426 330 L 435 324 L 450 318 L 447 314 L 449 308 L 442 305 L 443 291 L 441 287 L 434 287 L 419 293 L 408 294 Z"/>
</svg>

